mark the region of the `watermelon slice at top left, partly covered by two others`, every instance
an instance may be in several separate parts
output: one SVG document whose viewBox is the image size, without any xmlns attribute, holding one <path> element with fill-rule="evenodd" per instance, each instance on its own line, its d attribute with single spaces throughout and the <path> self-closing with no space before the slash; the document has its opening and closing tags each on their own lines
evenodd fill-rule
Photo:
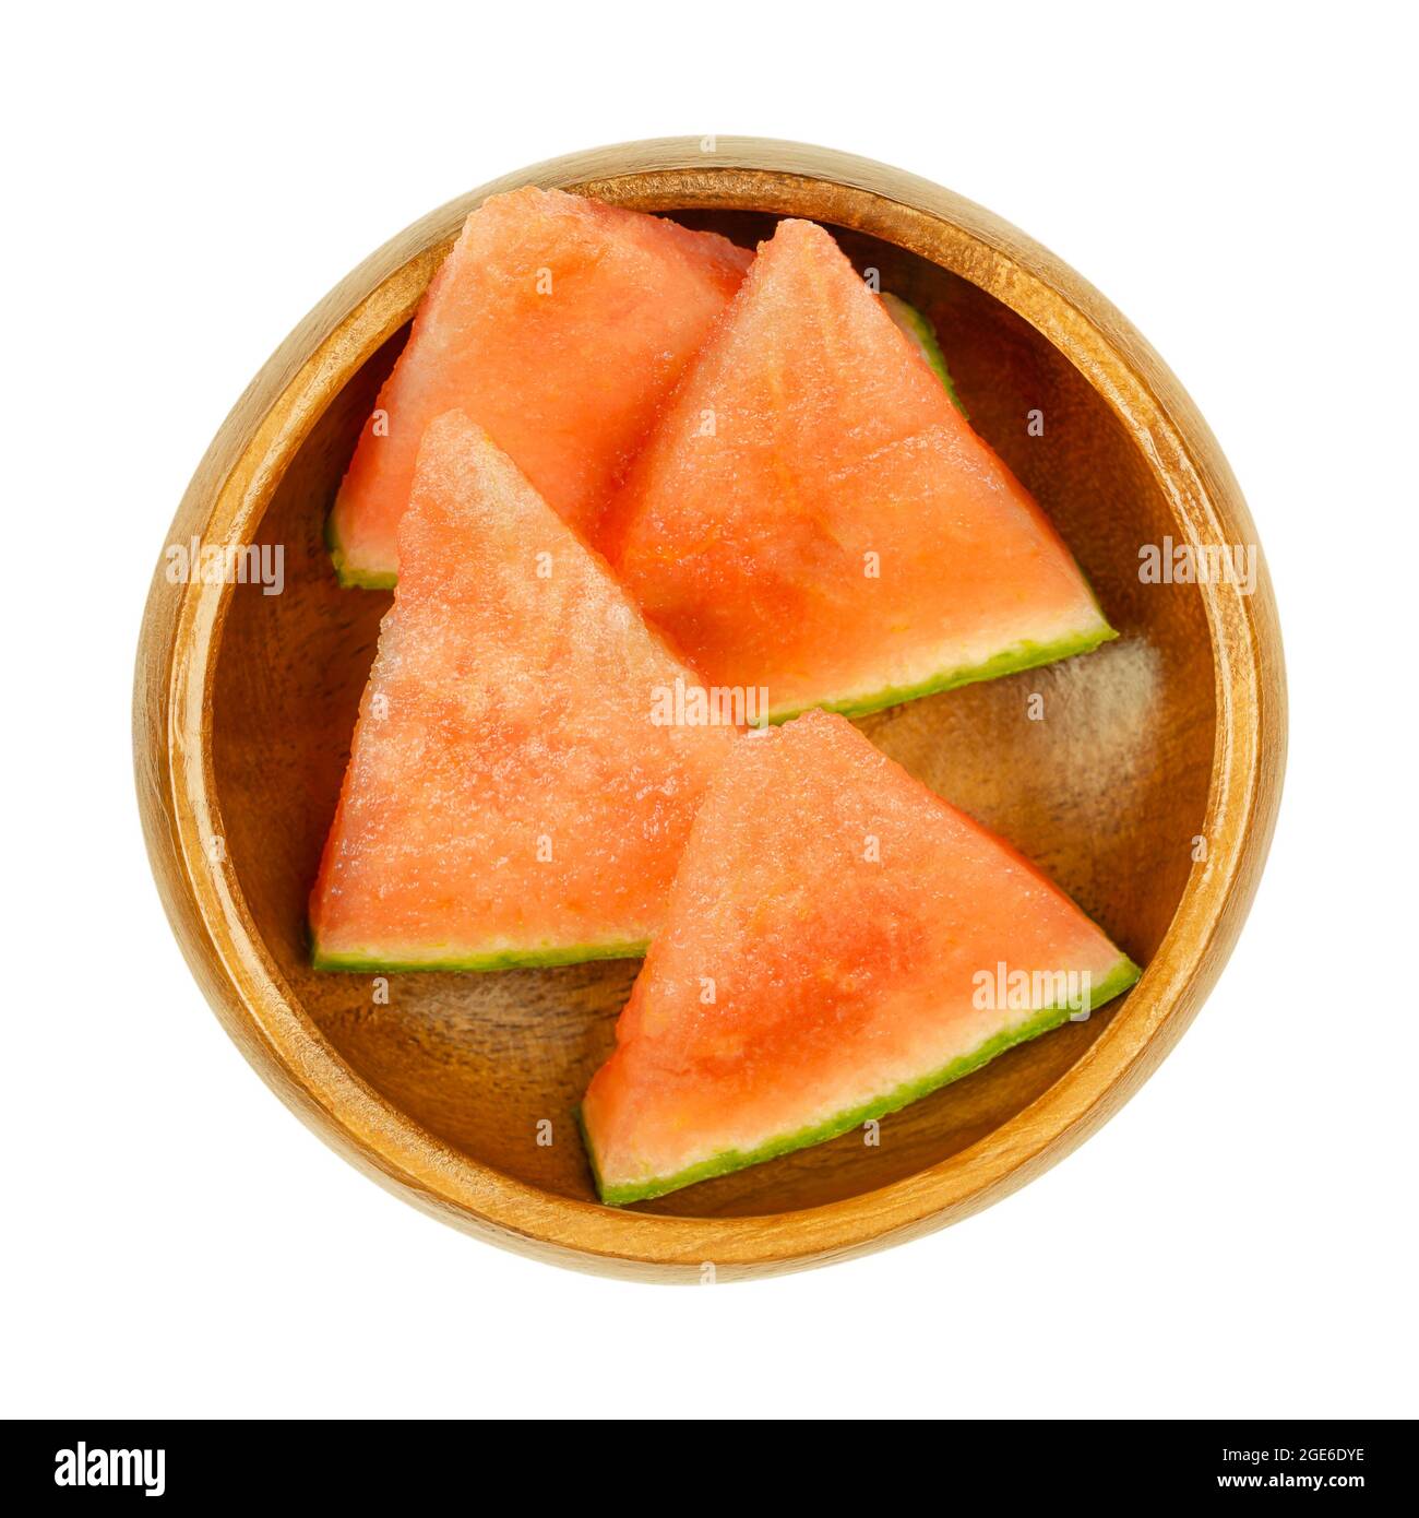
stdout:
<svg viewBox="0 0 1419 1518">
<path fill-rule="evenodd" d="M 419 439 L 454 408 L 586 534 L 751 257 L 558 190 L 484 200 L 360 434 L 326 533 L 341 583 L 395 583 Z"/>
</svg>

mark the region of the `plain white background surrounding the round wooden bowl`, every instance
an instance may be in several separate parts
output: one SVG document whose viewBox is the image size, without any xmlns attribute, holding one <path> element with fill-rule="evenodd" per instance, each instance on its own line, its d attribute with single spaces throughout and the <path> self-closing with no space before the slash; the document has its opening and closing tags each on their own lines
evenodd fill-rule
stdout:
<svg viewBox="0 0 1419 1518">
<path fill-rule="evenodd" d="M 1414 36 L 1389 5 L 908 12 L 8 20 L 3 1412 L 1419 1412 Z M 1293 718 L 1241 944 L 1122 1116 L 927 1240 L 675 1290 L 431 1222 L 266 1090 L 158 905 L 129 689 L 193 466 L 335 279 L 519 165 L 703 132 L 915 170 L 1122 307 L 1248 493 Z"/>
</svg>

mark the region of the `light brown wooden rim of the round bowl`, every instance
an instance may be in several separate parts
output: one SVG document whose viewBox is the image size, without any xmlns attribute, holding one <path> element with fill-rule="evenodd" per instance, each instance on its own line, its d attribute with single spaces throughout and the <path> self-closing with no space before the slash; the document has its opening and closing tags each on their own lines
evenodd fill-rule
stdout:
<svg viewBox="0 0 1419 1518">
<path fill-rule="evenodd" d="M 1159 949 L 1094 1044 L 1035 1102 L 950 1158 L 801 1211 L 675 1217 L 583 1202 L 434 1137 L 366 1084 L 302 1011 L 231 861 L 212 770 L 212 677 L 231 586 L 153 574 L 134 685 L 134 757 L 159 894 L 206 999 L 267 1084 L 337 1152 L 422 1210 L 558 1264 L 653 1280 L 765 1275 L 847 1258 L 956 1222 L 1055 1164 L 1143 1084 L 1196 1016 L 1251 905 L 1285 762 L 1285 679 L 1255 527 L 1216 439 L 1144 339 L 1078 273 L 993 213 L 832 149 L 745 137 L 657 138 L 571 153 L 429 213 L 322 299 L 276 349 L 193 475 L 168 543 L 250 542 L 326 404 L 413 314 L 463 219 L 534 184 L 637 209 L 813 214 L 962 275 L 1052 342 L 1147 458 L 1178 540 L 1257 545 L 1255 594 L 1197 586 L 1216 672 L 1216 747 L 1194 865 Z"/>
</svg>

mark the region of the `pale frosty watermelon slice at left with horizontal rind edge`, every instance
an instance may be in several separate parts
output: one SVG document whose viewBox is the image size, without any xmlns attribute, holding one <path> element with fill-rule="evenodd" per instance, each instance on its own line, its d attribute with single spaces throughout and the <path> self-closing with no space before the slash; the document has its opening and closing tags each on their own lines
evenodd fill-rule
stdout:
<svg viewBox="0 0 1419 1518">
<path fill-rule="evenodd" d="M 657 724 L 662 691 L 698 682 L 461 413 L 425 434 L 399 553 L 311 894 L 316 965 L 643 953 L 736 729 Z"/>
</svg>

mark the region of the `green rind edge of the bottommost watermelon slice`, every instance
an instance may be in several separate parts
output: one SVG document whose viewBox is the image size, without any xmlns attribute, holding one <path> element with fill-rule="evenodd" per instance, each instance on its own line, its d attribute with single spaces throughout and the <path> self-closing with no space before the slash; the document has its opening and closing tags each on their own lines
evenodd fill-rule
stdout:
<svg viewBox="0 0 1419 1518">
<path fill-rule="evenodd" d="M 1103 1006 L 1105 1002 L 1111 1002 L 1115 996 L 1122 996 L 1131 985 L 1134 985 L 1141 973 L 1143 972 L 1137 964 L 1134 964 L 1132 959 L 1129 959 L 1128 955 L 1120 955 L 1109 973 L 1093 988 L 1090 994 L 1090 1011 L 1094 1013 Z M 581 1138 L 586 1145 L 587 1158 L 590 1160 L 592 1176 L 596 1183 L 596 1195 L 606 1207 L 627 1207 L 631 1202 L 648 1202 L 657 1196 L 668 1196 L 671 1192 L 678 1192 L 686 1186 L 695 1186 L 698 1181 L 710 1181 L 719 1175 L 745 1170 L 751 1164 L 763 1164 L 766 1160 L 779 1160 L 786 1154 L 797 1152 L 798 1149 L 807 1149 L 812 1145 L 826 1143 L 829 1138 L 841 1138 L 842 1134 L 851 1132 L 853 1128 L 861 1128 L 862 1123 L 870 1122 L 874 1117 L 885 1117 L 888 1113 L 900 1111 L 903 1107 L 909 1107 L 923 1096 L 930 1096 L 932 1091 L 941 1090 L 942 1085 L 950 1085 L 953 1081 L 959 1081 L 964 1076 L 971 1075 L 983 1064 L 994 1060 L 996 1055 L 1005 1053 L 1006 1049 L 1014 1049 L 1017 1044 L 1027 1043 L 1030 1038 L 1038 1038 L 1040 1034 L 1047 1034 L 1055 1028 L 1062 1026 L 1071 1016 L 1071 1008 L 1047 1006 L 1043 1011 L 1034 1013 L 1015 1028 L 1006 1028 L 1003 1032 L 986 1038 L 979 1047 L 952 1060 L 944 1069 L 933 1070 L 930 1075 L 921 1076 L 917 1081 L 908 1081 L 905 1085 L 898 1085 L 895 1090 L 888 1091 L 885 1096 L 879 1096 L 862 1107 L 854 1107 L 851 1111 L 839 1113 L 836 1117 L 829 1117 L 827 1122 L 816 1123 L 812 1128 L 803 1128 L 794 1134 L 769 1138 L 768 1143 L 760 1145 L 757 1149 L 751 1149 L 748 1154 L 742 1154 L 738 1149 L 727 1149 L 722 1154 L 712 1155 L 709 1160 L 701 1160 L 697 1164 L 680 1170 L 677 1175 L 663 1178 L 656 1176 L 647 1181 L 607 1186 L 601 1178 L 601 1169 L 596 1164 L 596 1151 L 592 1145 L 590 1134 L 586 1131 L 586 1122 L 581 1116 L 581 1110 L 578 1108 L 577 1123 L 581 1128 Z"/>
</svg>

